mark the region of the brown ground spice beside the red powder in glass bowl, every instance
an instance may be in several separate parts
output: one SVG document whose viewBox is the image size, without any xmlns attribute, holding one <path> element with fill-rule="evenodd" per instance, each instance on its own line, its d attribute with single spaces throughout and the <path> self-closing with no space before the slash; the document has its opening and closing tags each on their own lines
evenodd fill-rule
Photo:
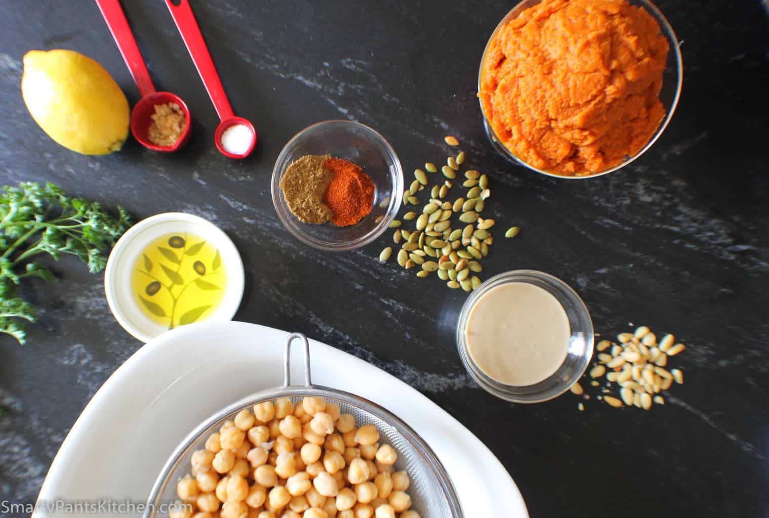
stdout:
<svg viewBox="0 0 769 518">
<path fill-rule="evenodd" d="M 334 173 L 325 167 L 331 155 L 305 155 L 291 162 L 281 178 L 283 198 L 299 221 L 322 224 L 331 219 L 323 196 Z"/>
</svg>

